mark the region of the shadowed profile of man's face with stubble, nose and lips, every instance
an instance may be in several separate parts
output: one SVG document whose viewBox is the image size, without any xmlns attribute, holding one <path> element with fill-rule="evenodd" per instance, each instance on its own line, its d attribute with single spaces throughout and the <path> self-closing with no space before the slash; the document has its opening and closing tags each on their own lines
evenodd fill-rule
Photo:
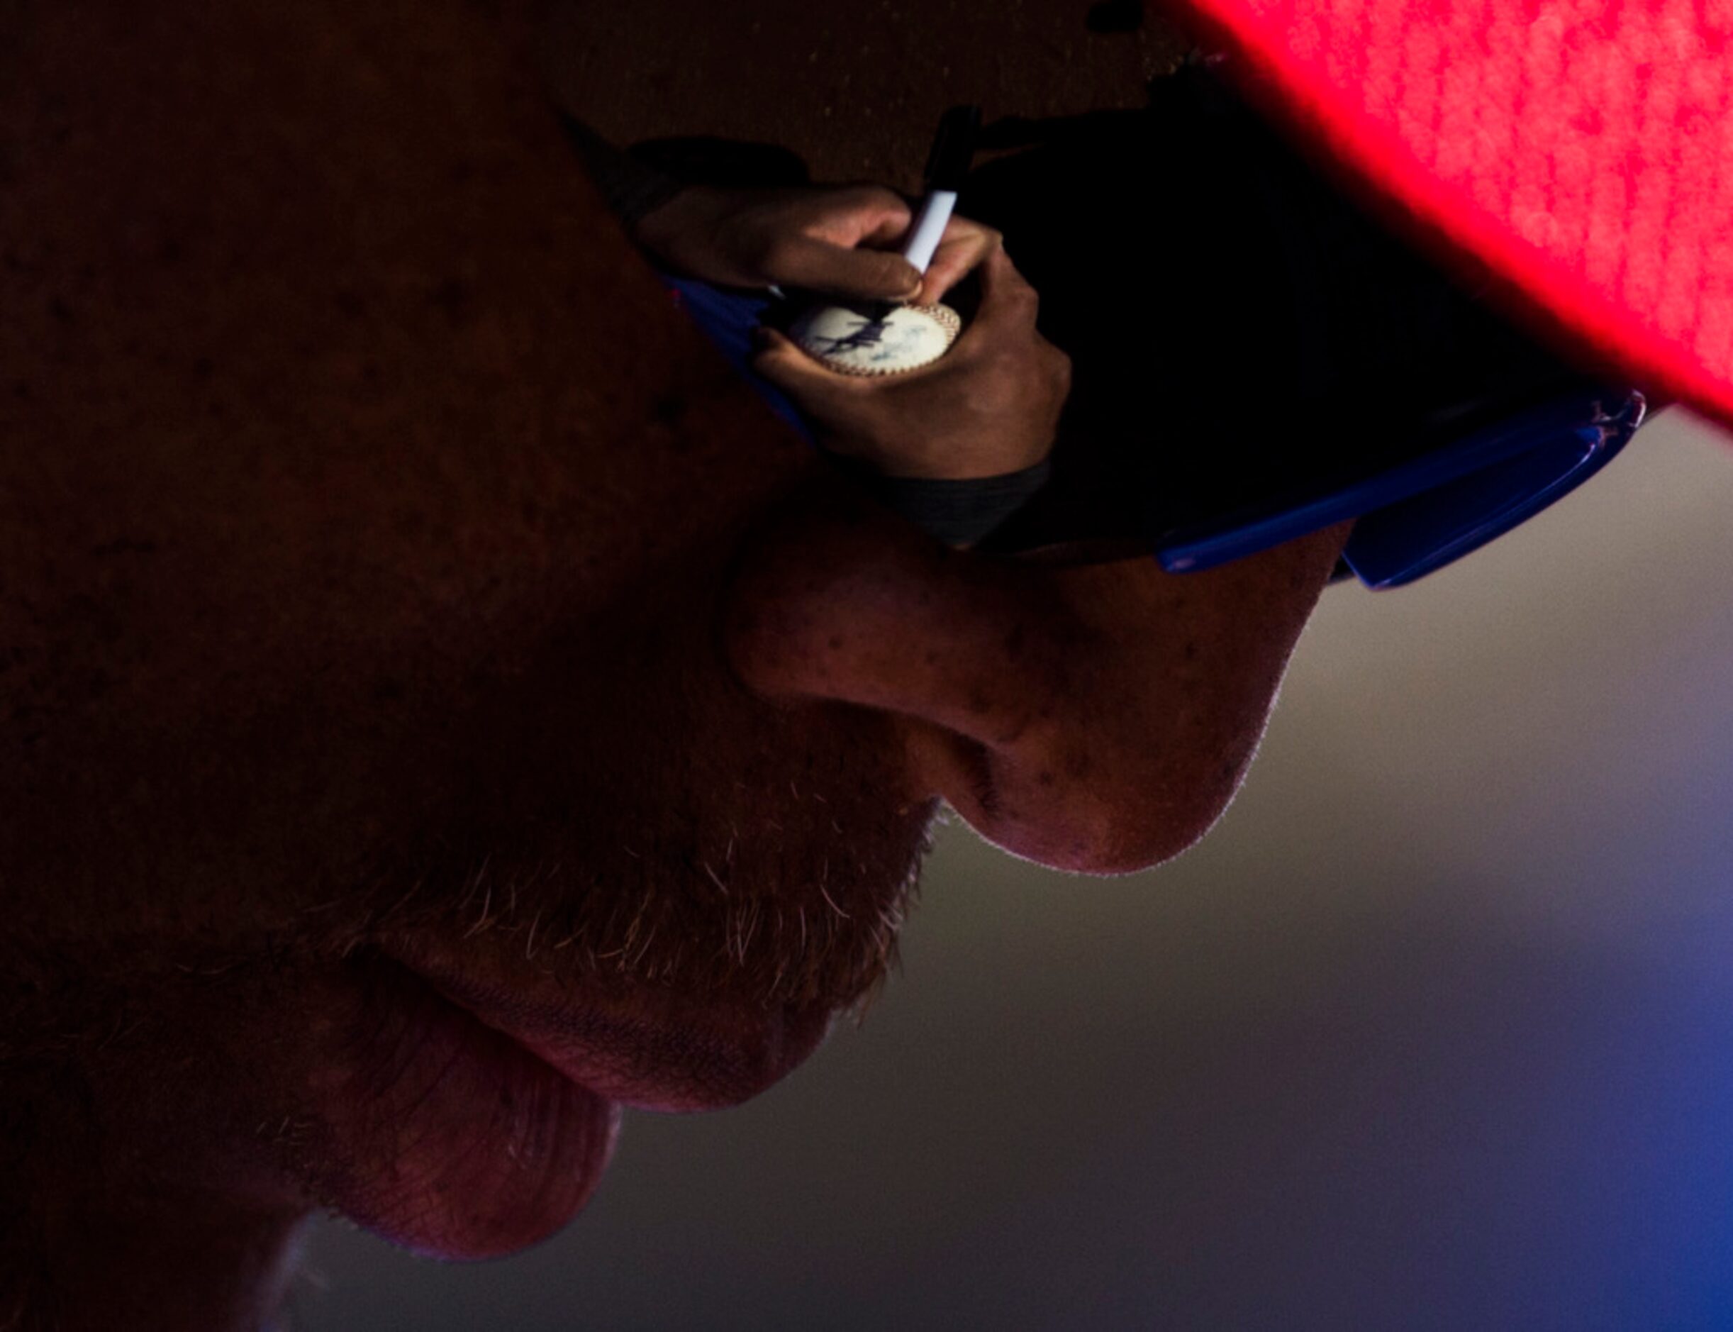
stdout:
<svg viewBox="0 0 1733 1332">
<path fill-rule="evenodd" d="M 750 1098 L 873 992 L 944 806 L 1078 872 L 1203 836 L 1334 565 L 877 508 L 664 298 L 504 9 L 0 17 L 12 1308 L 246 1325 L 321 1207 L 548 1237 L 620 1107 Z"/>
</svg>

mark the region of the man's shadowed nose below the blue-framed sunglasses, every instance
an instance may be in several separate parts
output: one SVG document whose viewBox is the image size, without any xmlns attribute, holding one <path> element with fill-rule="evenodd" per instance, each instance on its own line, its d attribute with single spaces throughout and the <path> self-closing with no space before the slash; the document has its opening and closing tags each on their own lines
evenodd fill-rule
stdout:
<svg viewBox="0 0 1733 1332">
<path fill-rule="evenodd" d="M 825 479 L 743 555 L 724 650 L 769 699 L 892 715 L 913 794 L 988 841 L 1123 874 L 1227 808 L 1345 539 L 1185 576 L 1048 569 L 950 550 Z"/>
</svg>

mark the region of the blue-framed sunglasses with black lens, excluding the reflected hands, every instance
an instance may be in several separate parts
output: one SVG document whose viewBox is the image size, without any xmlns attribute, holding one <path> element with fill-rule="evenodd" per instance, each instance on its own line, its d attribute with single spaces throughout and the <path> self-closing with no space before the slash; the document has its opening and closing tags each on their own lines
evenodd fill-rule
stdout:
<svg viewBox="0 0 1733 1332">
<path fill-rule="evenodd" d="M 1028 128 L 1005 121 L 984 134 L 1010 134 L 1000 146 L 1016 147 Z M 1256 309 L 1255 317 L 1286 330 L 1253 366 L 1279 368 L 1284 378 L 1265 383 L 1262 395 L 1288 402 L 1289 415 L 1223 425 L 1208 420 L 1211 404 L 1182 402 L 1178 413 L 1189 418 L 1170 421 L 1172 437 L 1189 441 L 1178 454 L 1151 441 L 1121 449 L 1118 463 L 1092 473 L 1099 463 L 1087 458 L 1090 442 L 1121 430 L 1111 413 L 1092 427 L 1085 408 L 1076 421 L 1061 423 L 1043 493 L 979 541 L 981 553 L 1048 562 L 1152 553 L 1182 574 L 1352 519 L 1338 578 L 1399 588 L 1556 503 L 1612 461 L 1648 415 L 1645 394 L 1558 361 L 1373 227 L 1201 66 L 1152 83 L 1149 113 L 1035 130 L 1033 151 L 988 165 L 965 193 L 983 210 L 972 215 L 998 220 L 1007 245 L 1017 241 L 1019 267 L 1052 297 L 1043 300 L 1043 328 L 1052 314 L 1052 336 L 1062 347 L 1076 356 L 1087 343 L 1097 376 L 1092 395 L 1100 397 L 1106 376 L 1123 385 L 1107 390 L 1121 402 L 1120 420 L 1149 418 L 1151 408 L 1126 406 L 1125 395 L 1144 392 L 1142 366 L 1173 347 L 1151 345 L 1142 361 L 1126 359 L 1120 335 L 1109 331 L 1104 342 L 1099 316 L 1080 312 L 1074 295 L 1068 309 L 1068 293 L 1132 290 L 1156 300 L 1172 276 L 1137 271 L 1137 253 L 1100 243 L 1088 215 L 1069 206 L 1043 215 L 1042 201 L 1095 191 L 1097 217 L 1118 210 L 1154 236 L 1170 213 L 1146 196 L 1139 173 L 1118 170 L 1140 161 L 1147 179 L 1203 182 L 1227 201 L 1194 236 L 1175 232 L 1151 250 L 1198 255 L 1213 245 L 1217 272 L 1239 267 L 1246 255 L 1274 264 L 1279 276 L 1265 276 L 1267 286 L 1248 279 L 1255 295 L 1243 288 L 1213 302 L 1194 298 L 1192 309 L 1215 304 L 1241 310 L 1239 319 Z M 1113 189 L 1120 193 L 1104 193 Z M 1237 239 L 1225 239 L 1232 227 Z M 771 302 L 669 274 L 662 281 L 776 413 L 816 444 L 799 409 L 750 369 L 752 330 Z M 1241 335 L 1243 324 L 1225 338 L 1217 333 L 1211 356 L 1232 357 Z M 1137 336 L 1147 333 L 1133 330 Z M 1438 373 L 1414 380 L 1416 366 Z M 1074 397 L 1081 361 L 1078 369 Z M 1407 380 L 1416 387 L 1392 387 Z M 1345 421 L 1336 404 L 1348 404 L 1353 420 Z M 1357 441 L 1308 447 L 1295 420 L 1319 421 L 1319 430 L 1352 425 Z"/>
</svg>

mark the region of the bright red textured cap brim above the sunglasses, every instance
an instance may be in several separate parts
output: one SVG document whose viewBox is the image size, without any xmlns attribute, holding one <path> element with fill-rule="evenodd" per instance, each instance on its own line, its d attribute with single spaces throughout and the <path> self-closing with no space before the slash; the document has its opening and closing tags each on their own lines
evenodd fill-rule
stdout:
<svg viewBox="0 0 1733 1332">
<path fill-rule="evenodd" d="M 1182 3 L 1388 224 L 1733 425 L 1733 0 Z"/>
</svg>

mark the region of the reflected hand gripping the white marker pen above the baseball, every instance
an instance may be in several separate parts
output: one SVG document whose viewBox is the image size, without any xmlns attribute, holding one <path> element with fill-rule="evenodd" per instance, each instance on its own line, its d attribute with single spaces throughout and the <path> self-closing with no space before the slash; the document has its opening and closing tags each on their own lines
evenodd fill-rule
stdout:
<svg viewBox="0 0 1733 1332">
<path fill-rule="evenodd" d="M 634 236 L 676 272 L 717 286 L 799 286 L 860 300 L 938 300 L 996 245 L 951 219 L 920 272 L 891 248 L 912 222 L 880 186 L 711 189 L 691 186 L 638 220 Z"/>
</svg>

